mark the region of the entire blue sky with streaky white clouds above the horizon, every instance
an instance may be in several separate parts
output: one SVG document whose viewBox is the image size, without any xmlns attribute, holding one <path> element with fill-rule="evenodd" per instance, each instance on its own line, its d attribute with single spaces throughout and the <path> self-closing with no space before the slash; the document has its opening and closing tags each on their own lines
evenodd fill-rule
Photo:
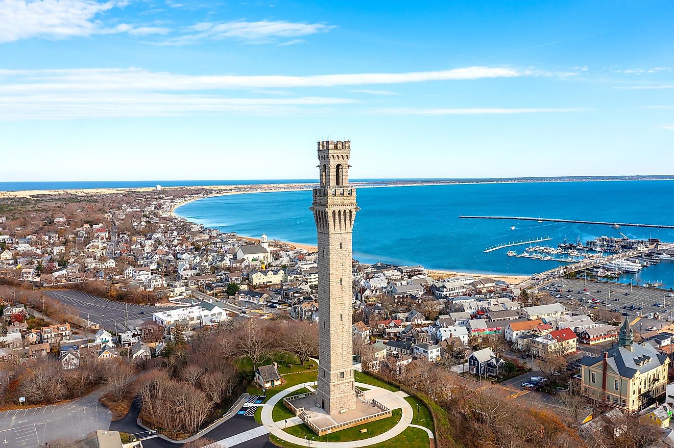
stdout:
<svg viewBox="0 0 674 448">
<path fill-rule="evenodd" d="M 674 174 L 671 1 L 0 0 L 0 180 Z"/>
</svg>

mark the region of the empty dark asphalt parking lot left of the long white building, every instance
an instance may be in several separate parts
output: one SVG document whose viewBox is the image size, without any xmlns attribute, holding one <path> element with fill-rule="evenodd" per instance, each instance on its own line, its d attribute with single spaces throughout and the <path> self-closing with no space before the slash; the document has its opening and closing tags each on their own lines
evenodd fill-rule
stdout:
<svg viewBox="0 0 674 448">
<path fill-rule="evenodd" d="M 46 291 L 45 294 L 75 309 L 80 318 L 95 322 L 109 331 L 130 330 L 144 320 L 152 319 L 152 313 L 172 309 L 127 304 L 80 291 Z"/>
</svg>

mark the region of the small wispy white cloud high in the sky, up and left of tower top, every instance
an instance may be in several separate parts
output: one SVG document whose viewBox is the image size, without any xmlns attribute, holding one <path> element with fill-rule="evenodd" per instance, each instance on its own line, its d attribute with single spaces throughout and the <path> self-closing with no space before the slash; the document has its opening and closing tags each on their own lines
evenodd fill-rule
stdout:
<svg viewBox="0 0 674 448">
<path fill-rule="evenodd" d="M 321 32 L 327 32 L 334 28 L 326 24 L 303 24 L 299 22 L 287 22 L 284 20 L 260 20 L 247 22 L 234 20 L 231 22 L 202 22 L 184 28 L 187 34 L 169 38 L 162 42 L 165 45 L 186 45 L 203 40 L 236 39 L 251 44 L 266 44 L 278 42 L 288 38 L 309 36 Z M 286 44 L 299 43 L 301 40 L 294 39 Z"/>
</svg>

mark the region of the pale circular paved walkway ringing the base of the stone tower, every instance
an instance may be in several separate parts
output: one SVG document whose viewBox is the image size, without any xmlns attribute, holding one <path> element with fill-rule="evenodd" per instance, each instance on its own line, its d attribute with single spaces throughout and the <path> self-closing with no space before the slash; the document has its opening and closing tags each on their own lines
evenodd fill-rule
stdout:
<svg viewBox="0 0 674 448">
<path fill-rule="evenodd" d="M 274 406 L 278 402 L 280 402 L 284 397 L 288 396 L 290 392 L 296 391 L 297 389 L 301 389 L 302 387 L 305 386 L 311 386 L 315 385 L 315 381 L 309 382 L 309 383 L 302 383 L 298 385 L 294 385 L 293 387 L 288 387 L 288 389 L 285 389 L 284 391 L 279 392 L 275 396 L 273 396 L 264 406 L 262 406 L 262 424 L 264 424 L 264 427 L 268 429 L 270 433 L 278 437 L 279 439 L 283 439 L 286 442 L 290 443 L 295 443 L 295 445 L 300 445 L 303 446 L 305 443 L 307 443 L 306 439 L 300 439 L 299 437 L 296 437 L 294 435 L 288 434 L 285 431 L 283 431 L 280 426 L 278 426 L 277 423 L 280 422 L 274 422 L 274 419 L 272 418 L 272 410 L 274 409 Z M 316 448 L 359 448 L 359 447 L 367 447 L 369 445 L 374 445 L 375 443 L 381 443 L 384 441 L 387 441 L 389 439 L 392 439 L 396 437 L 398 434 L 402 433 L 402 431 L 405 431 L 406 428 L 408 428 L 411 423 L 412 423 L 412 416 L 414 416 L 414 411 L 412 410 L 412 406 L 402 398 L 401 396 L 398 396 L 394 394 L 392 391 L 383 389 L 382 387 L 377 387 L 371 384 L 366 384 L 366 383 L 356 383 L 357 386 L 360 387 L 367 387 L 367 389 L 375 389 L 378 391 L 381 391 L 383 393 L 388 393 L 390 396 L 391 400 L 394 400 L 398 406 L 396 406 L 393 409 L 397 408 L 402 408 L 402 418 L 400 418 L 400 421 L 391 428 L 390 430 L 386 431 L 386 433 L 376 435 L 375 437 L 370 437 L 369 439 L 363 439 L 363 440 L 357 440 L 357 441 L 348 441 L 348 442 L 321 442 L 321 441 L 313 441 L 311 445 Z M 297 417 L 296 417 L 297 418 Z"/>
</svg>

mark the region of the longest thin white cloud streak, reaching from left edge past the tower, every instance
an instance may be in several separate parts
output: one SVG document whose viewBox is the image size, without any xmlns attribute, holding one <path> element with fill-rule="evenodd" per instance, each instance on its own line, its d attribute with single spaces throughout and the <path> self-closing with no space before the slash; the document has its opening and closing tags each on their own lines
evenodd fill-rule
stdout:
<svg viewBox="0 0 674 448">
<path fill-rule="evenodd" d="M 507 67 L 464 67 L 443 71 L 410 73 L 344 73 L 336 75 L 181 75 L 144 69 L 0 69 L 0 94 L 40 91 L 195 91 L 210 89 L 255 89 L 334 87 L 459 81 L 531 76 Z"/>
</svg>

